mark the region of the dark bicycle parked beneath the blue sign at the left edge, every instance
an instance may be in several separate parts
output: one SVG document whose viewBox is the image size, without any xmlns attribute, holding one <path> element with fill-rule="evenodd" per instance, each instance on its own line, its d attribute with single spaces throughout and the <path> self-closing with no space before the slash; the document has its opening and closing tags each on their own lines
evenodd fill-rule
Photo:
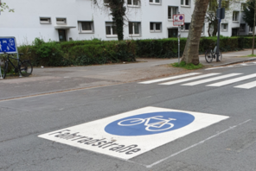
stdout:
<svg viewBox="0 0 256 171">
<path fill-rule="evenodd" d="M 10 57 L 11 55 L 13 56 L 13 54 L 7 54 L 7 59 L 3 66 L 3 79 L 5 79 L 6 74 L 8 73 L 9 63 L 14 67 L 15 69 L 14 71 L 16 73 L 20 73 L 22 76 L 28 77 L 33 71 L 33 66 L 31 65 L 30 61 L 20 60 L 18 58 Z M 23 54 L 19 54 L 19 55 L 23 55 Z M 17 65 L 13 64 L 10 59 L 17 60 Z"/>
</svg>

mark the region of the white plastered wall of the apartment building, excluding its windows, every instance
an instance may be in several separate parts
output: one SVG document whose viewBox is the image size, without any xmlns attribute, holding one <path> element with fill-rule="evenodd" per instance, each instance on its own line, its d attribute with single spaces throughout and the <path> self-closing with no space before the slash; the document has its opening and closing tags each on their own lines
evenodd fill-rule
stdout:
<svg viewBox="0 0 256 171">
<path fill-rule="evenodd" d="M 180 0 L 162 0 L 161 4 L 150 4 L 149 0 L 141 0 L 140 7 L 127 6 L 127 16 L 131 22 L 140 22 L 140 36 L 129 36 L 128 22 L 125 22 L 125 39 L 159 39 L 168 37 L 168 28 L 173 26 L 172 20 L 168 19 L 168 6 L 178 7 L 181 14 L 185 15 L 185 22 L 191 21 L 191 16 L 195 7 L 191 0 L 189 6 L 182 6 Z M 117 36 L 106 36 L 106 22 L 112 21 L 112 16 L 108 15 L 108 9 L 98 9 L 92 5 L 91 0 L 8 0 L 14 13 L 2 12 L 0 16 L 0 36 L 16 36 L 19 45 L 31 44 L 36 37 L 44 41 L 59 41 L 56 18 L 66 18 L 67 26 L 74 28 L 66 29 L 67 41 L 72 40 L 91 40 L 98 38 L 102 40 L 118 40 Z M 240 11 L 240 3 L 234 5 L 232 10 Z M 99 4 L 100 5 L 100 4 Z M 102 6 L 102 5 L 100 5 Z M 221 35 L 231 36 L 232 28 L 240 28 L 240 23 L 244 23 L 241 17 L 238 22 L 232 21 L 233 12 L 229 12 L 226 20 L 228 30 L 221 31 Z M 40 17 L 50 17 L 50 24 L 40 23 Z M 79 21 L 93 21 L 93 33 L 80 33 Z M 150 22 L 162 22 L 162 31 L 159 33 L 150 32 Z M 208 36 L 208 23 L 204 24 L 204 35 Z M 182 31 L 182 37 L 187 37 L 189 31 Z M 248 34 L 248 28 L 246 32 Z"/>
</svg>

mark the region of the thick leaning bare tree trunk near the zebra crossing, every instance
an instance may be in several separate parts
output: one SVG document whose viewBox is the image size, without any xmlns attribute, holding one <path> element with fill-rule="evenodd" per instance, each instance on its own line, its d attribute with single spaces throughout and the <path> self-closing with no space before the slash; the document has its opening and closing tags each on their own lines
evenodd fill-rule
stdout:
<svg viewBox="0 0 256 171">
<path fill-rule="evenodd" d="M 195 0 L 195 9 L 189 26 L 189 36 L 182 56 L 182 61 L 185 61 L 186 64 L 199 64 L 199 43 L 208 3 L 209 0 Z"/>
</svg>

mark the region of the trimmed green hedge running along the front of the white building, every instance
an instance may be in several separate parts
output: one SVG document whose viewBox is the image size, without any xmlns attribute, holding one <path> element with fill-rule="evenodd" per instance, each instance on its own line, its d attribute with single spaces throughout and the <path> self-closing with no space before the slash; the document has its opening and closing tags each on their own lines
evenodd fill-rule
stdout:
<svg viewBox="0 0 256 171">
<path fill-rule="evenodd" d="M 186 45 L 186 38 L 181 38 L 181 56 Z M 203 37 L 199 45 L 199 54 L 208 48 L 214 48 L 217 37 Z M 252 48 L 252 36 L 221 36 L 222 52 Z M 255 43 L 256 46 L 256 43 Z M 38 38 L 32 45 L 18 48 L 34 66 L 84 66 L 93 64 L 134 61 L 135 57 L 174 58 L 178 56 L 178 40 L 148 39 L 137 41 L 66 41 L 44 42 Z"/>
</svg>

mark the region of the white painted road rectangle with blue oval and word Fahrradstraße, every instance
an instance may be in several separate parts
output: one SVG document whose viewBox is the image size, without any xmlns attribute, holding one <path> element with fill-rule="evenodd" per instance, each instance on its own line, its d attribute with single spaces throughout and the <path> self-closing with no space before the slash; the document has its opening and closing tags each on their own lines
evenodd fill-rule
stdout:
<svg viewBox="0 0 256 171">
<path fill-rule="evenodd" d="M 128 160 L 227 118 L 195 111 L 144 107 L 39 137 Z"/>
</svg>

